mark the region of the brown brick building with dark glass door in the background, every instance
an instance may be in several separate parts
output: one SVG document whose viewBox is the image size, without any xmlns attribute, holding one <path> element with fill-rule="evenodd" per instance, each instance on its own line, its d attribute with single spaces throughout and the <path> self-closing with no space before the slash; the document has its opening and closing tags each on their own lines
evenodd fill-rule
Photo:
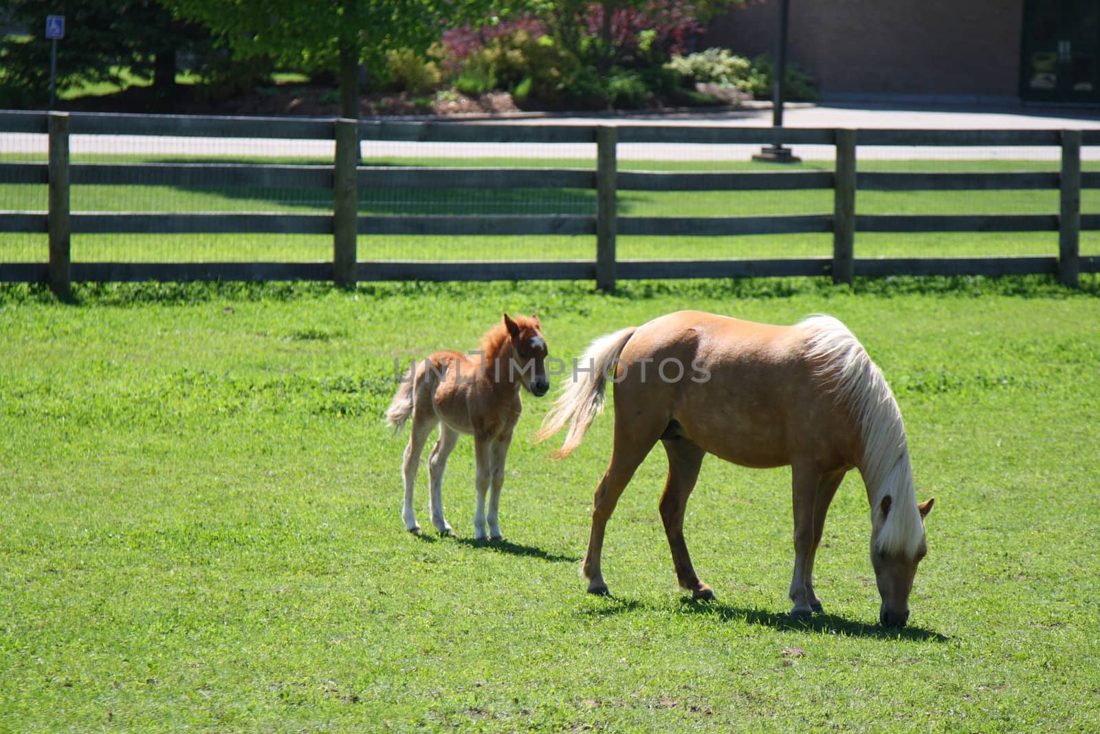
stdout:
<svg viewBox="0 0 1100 734">
<path fill-rule="evenodd" d="M 717 19 L 707 42 L 774 45 L 778 0 Z M 826 99 L 1100 103 L 1100 0 L 790 0 L 788 58 Z"/>
</svg>

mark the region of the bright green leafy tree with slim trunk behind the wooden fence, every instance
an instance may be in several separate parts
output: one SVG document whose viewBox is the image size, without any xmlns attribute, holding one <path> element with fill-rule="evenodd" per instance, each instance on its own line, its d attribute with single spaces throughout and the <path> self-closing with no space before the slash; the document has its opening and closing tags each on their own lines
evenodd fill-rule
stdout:
<svg viewBox="0 0 1100 734">
<path fill-rule="evenodd" d="M 388 51 L 426 53 L 448 28 L 491 22 L 493 0 L 161 0 L 177 18 L 206 25 L 239 58 L 264 55 L 304 72 L 329 72 L 340 85 L 340 113 L 359 117 L 360 69 L 380 67 Z M 509 3 L 508 12 L 521 3 Z"/>
</svg>

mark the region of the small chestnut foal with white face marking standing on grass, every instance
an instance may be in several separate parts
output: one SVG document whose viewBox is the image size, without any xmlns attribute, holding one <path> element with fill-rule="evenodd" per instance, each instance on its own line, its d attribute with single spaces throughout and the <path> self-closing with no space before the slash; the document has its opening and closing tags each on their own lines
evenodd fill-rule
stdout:
<svg viewBox="0 0 1100 734">
<path fill-rule="evenodd" d="M 439 440 L 429 459 L 430 492 L 428 512 L 431 524 L 442 534 L 451 533 L 443 518 L 442 482 L 447 458 L 460 434 L 473 434 L 477 472 L 477 508 L 474 512 L 474 538 L 501 539 L 498 514 L 504 461 L 512 442 L 512 431 L 524 409 L 519 399 L 522 385 L 536 397 L 547 394 L 547 342 L 536 316 L 504 315 L 504 321 L 485 332 L 477 360 L 453 351 L 436 352 L 415 364 L 394 395 L 386 420 L 395 429 L 413 418 L 413 435 L 405 448 L 402 475 L 405 479 L 405 505 L 402 519 L 410 533 L 419 533 L 413 510 L 413 485 L 420 465 L 420 453 L 436 424 Z M 488 515 L 485 494 L 488 493 Z M 485 524 L 488 521 L 488 532 Z"/>
</svg>

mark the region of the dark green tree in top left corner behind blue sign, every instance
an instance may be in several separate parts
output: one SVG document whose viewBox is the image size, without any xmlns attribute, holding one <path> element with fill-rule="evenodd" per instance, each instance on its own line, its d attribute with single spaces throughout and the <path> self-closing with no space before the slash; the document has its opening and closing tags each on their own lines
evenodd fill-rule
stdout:
<svg viewBox="0 0 1100 734">
<path fill-rule="evenodd" d="M 51 43 L 46 15 L 64 15 L 65 39 L 57 43 L 57 85 L 121 85 L 119 69 L 153 83 L 170 98 L 176 84 L 176 52 L 208 37 L 173 18 L 156 0 L 7 0 L 6 17 L 29 37 L 0 41 L 0 85 L 8 103 L 31 106 L 48 96 Z"/>
</svg>

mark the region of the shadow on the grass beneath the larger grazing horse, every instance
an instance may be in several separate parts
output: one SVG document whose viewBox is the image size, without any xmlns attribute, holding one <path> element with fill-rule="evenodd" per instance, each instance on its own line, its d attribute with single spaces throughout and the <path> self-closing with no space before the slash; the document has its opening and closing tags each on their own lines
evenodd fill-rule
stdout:
<svg viewBox="0 0 1100 734">
<path fill-rule="evenodd" d="M 618 614 L 629 614 L 635 612 L 667 612 L 668 610 L 659 604 L 609 596 L 600 605 L 585 609 L 583 613 L 593 616 L 615 616 Z M 735 606 L 724 604 L 718 601 L 695 601 L 693 599 L 680 600 L 681 614 L 696 614 L 700 616 L 713 617 L 721 622 L 744 622 L 745 624 L 761 627 L 772 627 L 781 631 L 816 632 L 825 635 L 844 635 L 847 637 L 865 637 L 869 639 L 904 639 L 913 642 L 946 643 L 948 637 L 920 626 L 906 626 L 901 629 L 883 627 L 877 624 L 855 622 L 836 614 L 815 614 L 812 620 L 791 620 L 785 613 L 771 612 L 767 610 Z"/>
</svg>

